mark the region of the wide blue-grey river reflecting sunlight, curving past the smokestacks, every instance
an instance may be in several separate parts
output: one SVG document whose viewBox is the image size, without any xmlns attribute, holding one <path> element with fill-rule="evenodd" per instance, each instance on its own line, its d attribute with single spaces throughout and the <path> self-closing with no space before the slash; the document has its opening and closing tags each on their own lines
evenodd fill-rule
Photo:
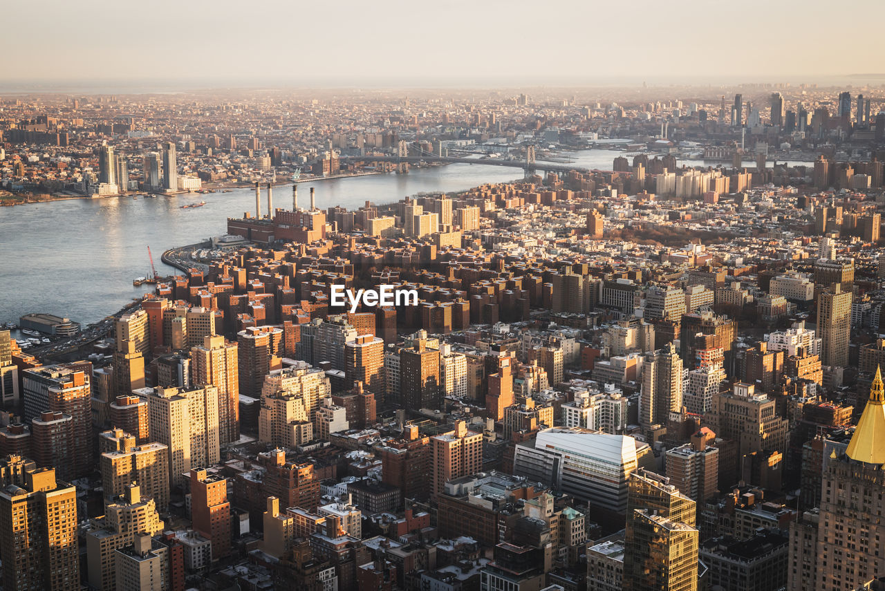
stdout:
<svg viewBox="0 0 885 591">
<path fill-rule="evenodd" d="M 615 150 L 581 150 L 573 154 L 572 163 L 611 170 L 616 156 Z M 342 205 L 353 210 L 366 201 L 393 203 L 422 192 L 453 192 L 521 178 L 521 170 L 504 166 L 413 168 L 408 174 L 301 182 L 298 199 L 306 206 L 313 187 L 318 207 Z M 275 187 L 274 207 L 291 207 L 291 196 L 290 186 Z M 261 199 L 264 210 L 266 188 Z M 181 209 L 183 204 L 200 201 L 206 204 Z M 18 323 L 29 312 L 57 314 L 82 325 L 103 319 L 153 290 L 150 285 L 132 285 L 135 277 L 150 273 L 149 246 L 159 274 L 171 275 L 173 268 L 160 262 L 165 249 L 225 234 L 228 217 L 254 209 L 251 188 L 208 195 L 73 199 L 2 207 L 0 323 Z"/>
</svg>

